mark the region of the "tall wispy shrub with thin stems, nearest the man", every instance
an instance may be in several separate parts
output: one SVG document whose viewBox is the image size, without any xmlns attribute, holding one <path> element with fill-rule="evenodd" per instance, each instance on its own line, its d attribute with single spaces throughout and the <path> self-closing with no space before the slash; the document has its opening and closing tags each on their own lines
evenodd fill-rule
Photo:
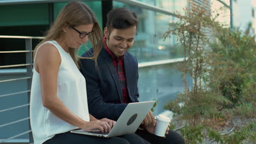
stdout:
<svg viewBox="0 0 256 144">
<path fill-rule="evenodd" d="M 170 23 L 165 38 L 170 34 L 176 35 L 178 44 L 183 48 L 184 62 L 179 66 L 182 71 L 184 82 L 184 92 L 178 98 L 165 105 L 165 109 L 176 114 L 181 114 L 187 119 L 190 125 L 197 125 L 201 122 L 201 117 L 217 112 L 220 105 L 228 105 L 230 101 L 214 88 L 208 85 L 211 83 L 209 74 L 211 65 L 208 63 L 211 53 L 207 53 L 209 35 L 205 31 L 217 31 L 222 24 L 216 21 L 216 17 L 207 13 L 207 1 L 203 1 L 202 7 L 190 2 L 190 8 L 185 9 L 185 14 L 177 14 L 179 21 Z M 187 75 L 193 79 L 193 87 L 187 84 Z M 178 104 L 182 103 L 183 106 Z"/>
</svg>

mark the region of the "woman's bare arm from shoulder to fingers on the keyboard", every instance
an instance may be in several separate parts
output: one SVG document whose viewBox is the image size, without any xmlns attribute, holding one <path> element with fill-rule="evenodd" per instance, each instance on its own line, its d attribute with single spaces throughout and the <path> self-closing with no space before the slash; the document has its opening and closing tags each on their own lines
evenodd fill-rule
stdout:
<svg viewBox="0 0 256 144">
<path fill-rule="evenodd" d="M 45 44 L 37 52 L 35 68 L 40 74 L 42 101 L 44 107 L 54 115 L 84 130 L 100 129 L 108 131 L 108 123 L 86 122 L 72 113 L 57 97 L 57 75 L 61 64 L 61 56 L 54 45 Z"/>
</svg>

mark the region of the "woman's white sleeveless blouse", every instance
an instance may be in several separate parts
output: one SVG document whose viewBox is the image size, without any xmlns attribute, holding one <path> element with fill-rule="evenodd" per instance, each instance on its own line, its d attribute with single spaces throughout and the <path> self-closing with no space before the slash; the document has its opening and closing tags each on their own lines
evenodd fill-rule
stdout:
<svg viewBox="0 0 256 144">
<path fill-rule="evenodd" d="M 46 41 L 44 44 L 46 43 L 53 44 L 61 56 L 61 64 L 57 76 L 57 97 L 75 115 L 89 122 L 84 76 L 80 73 L 69 53 L 63 50 L 55 40 Z M 56 117 L 43 106 L 40 76 L 34 68 L 30 99 L 30 122 L 34 144 L 41 144 L 56 134 L 77 129 L 74 125 Z"/>
</svg>

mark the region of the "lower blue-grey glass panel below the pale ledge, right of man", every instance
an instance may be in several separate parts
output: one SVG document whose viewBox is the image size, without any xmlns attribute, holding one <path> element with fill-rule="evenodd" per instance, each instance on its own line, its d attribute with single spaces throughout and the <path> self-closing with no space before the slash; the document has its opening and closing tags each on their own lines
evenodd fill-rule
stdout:
<svg viewBox="0 0 256 144">
<path fill-rule="evenodd" d="M 158 105 L 154 114 L 165 111 L 164 104 L 184 90 L 181 75 L 181 72 L 177 71 L 176 63 L 139 68 L 139 101 L 156 99 Z M 187 80 L 191 86 L 192 80 L 189 76 Z"/>
</svg>

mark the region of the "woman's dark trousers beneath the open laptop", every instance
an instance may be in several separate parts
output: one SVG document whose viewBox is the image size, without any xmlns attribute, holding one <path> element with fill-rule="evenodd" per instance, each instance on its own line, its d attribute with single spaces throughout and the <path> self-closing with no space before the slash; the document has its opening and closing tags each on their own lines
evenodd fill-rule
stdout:
<svg viewBox="0 0 256 144">
<path fill-rule="evenodd" d="M 96 143 L 120 143 L 120 144 L 143 144 L 149 143 L 139 137 L 136 134 L 127 134 L 117 137 L 98 137 L 98 136 L 89 136 L 89 135 L 81 135 L 74 133 L 62 133 L 57 134 L 50 140 L 45 141 L 43 144 L 96 144 Z"/>
</svg>

